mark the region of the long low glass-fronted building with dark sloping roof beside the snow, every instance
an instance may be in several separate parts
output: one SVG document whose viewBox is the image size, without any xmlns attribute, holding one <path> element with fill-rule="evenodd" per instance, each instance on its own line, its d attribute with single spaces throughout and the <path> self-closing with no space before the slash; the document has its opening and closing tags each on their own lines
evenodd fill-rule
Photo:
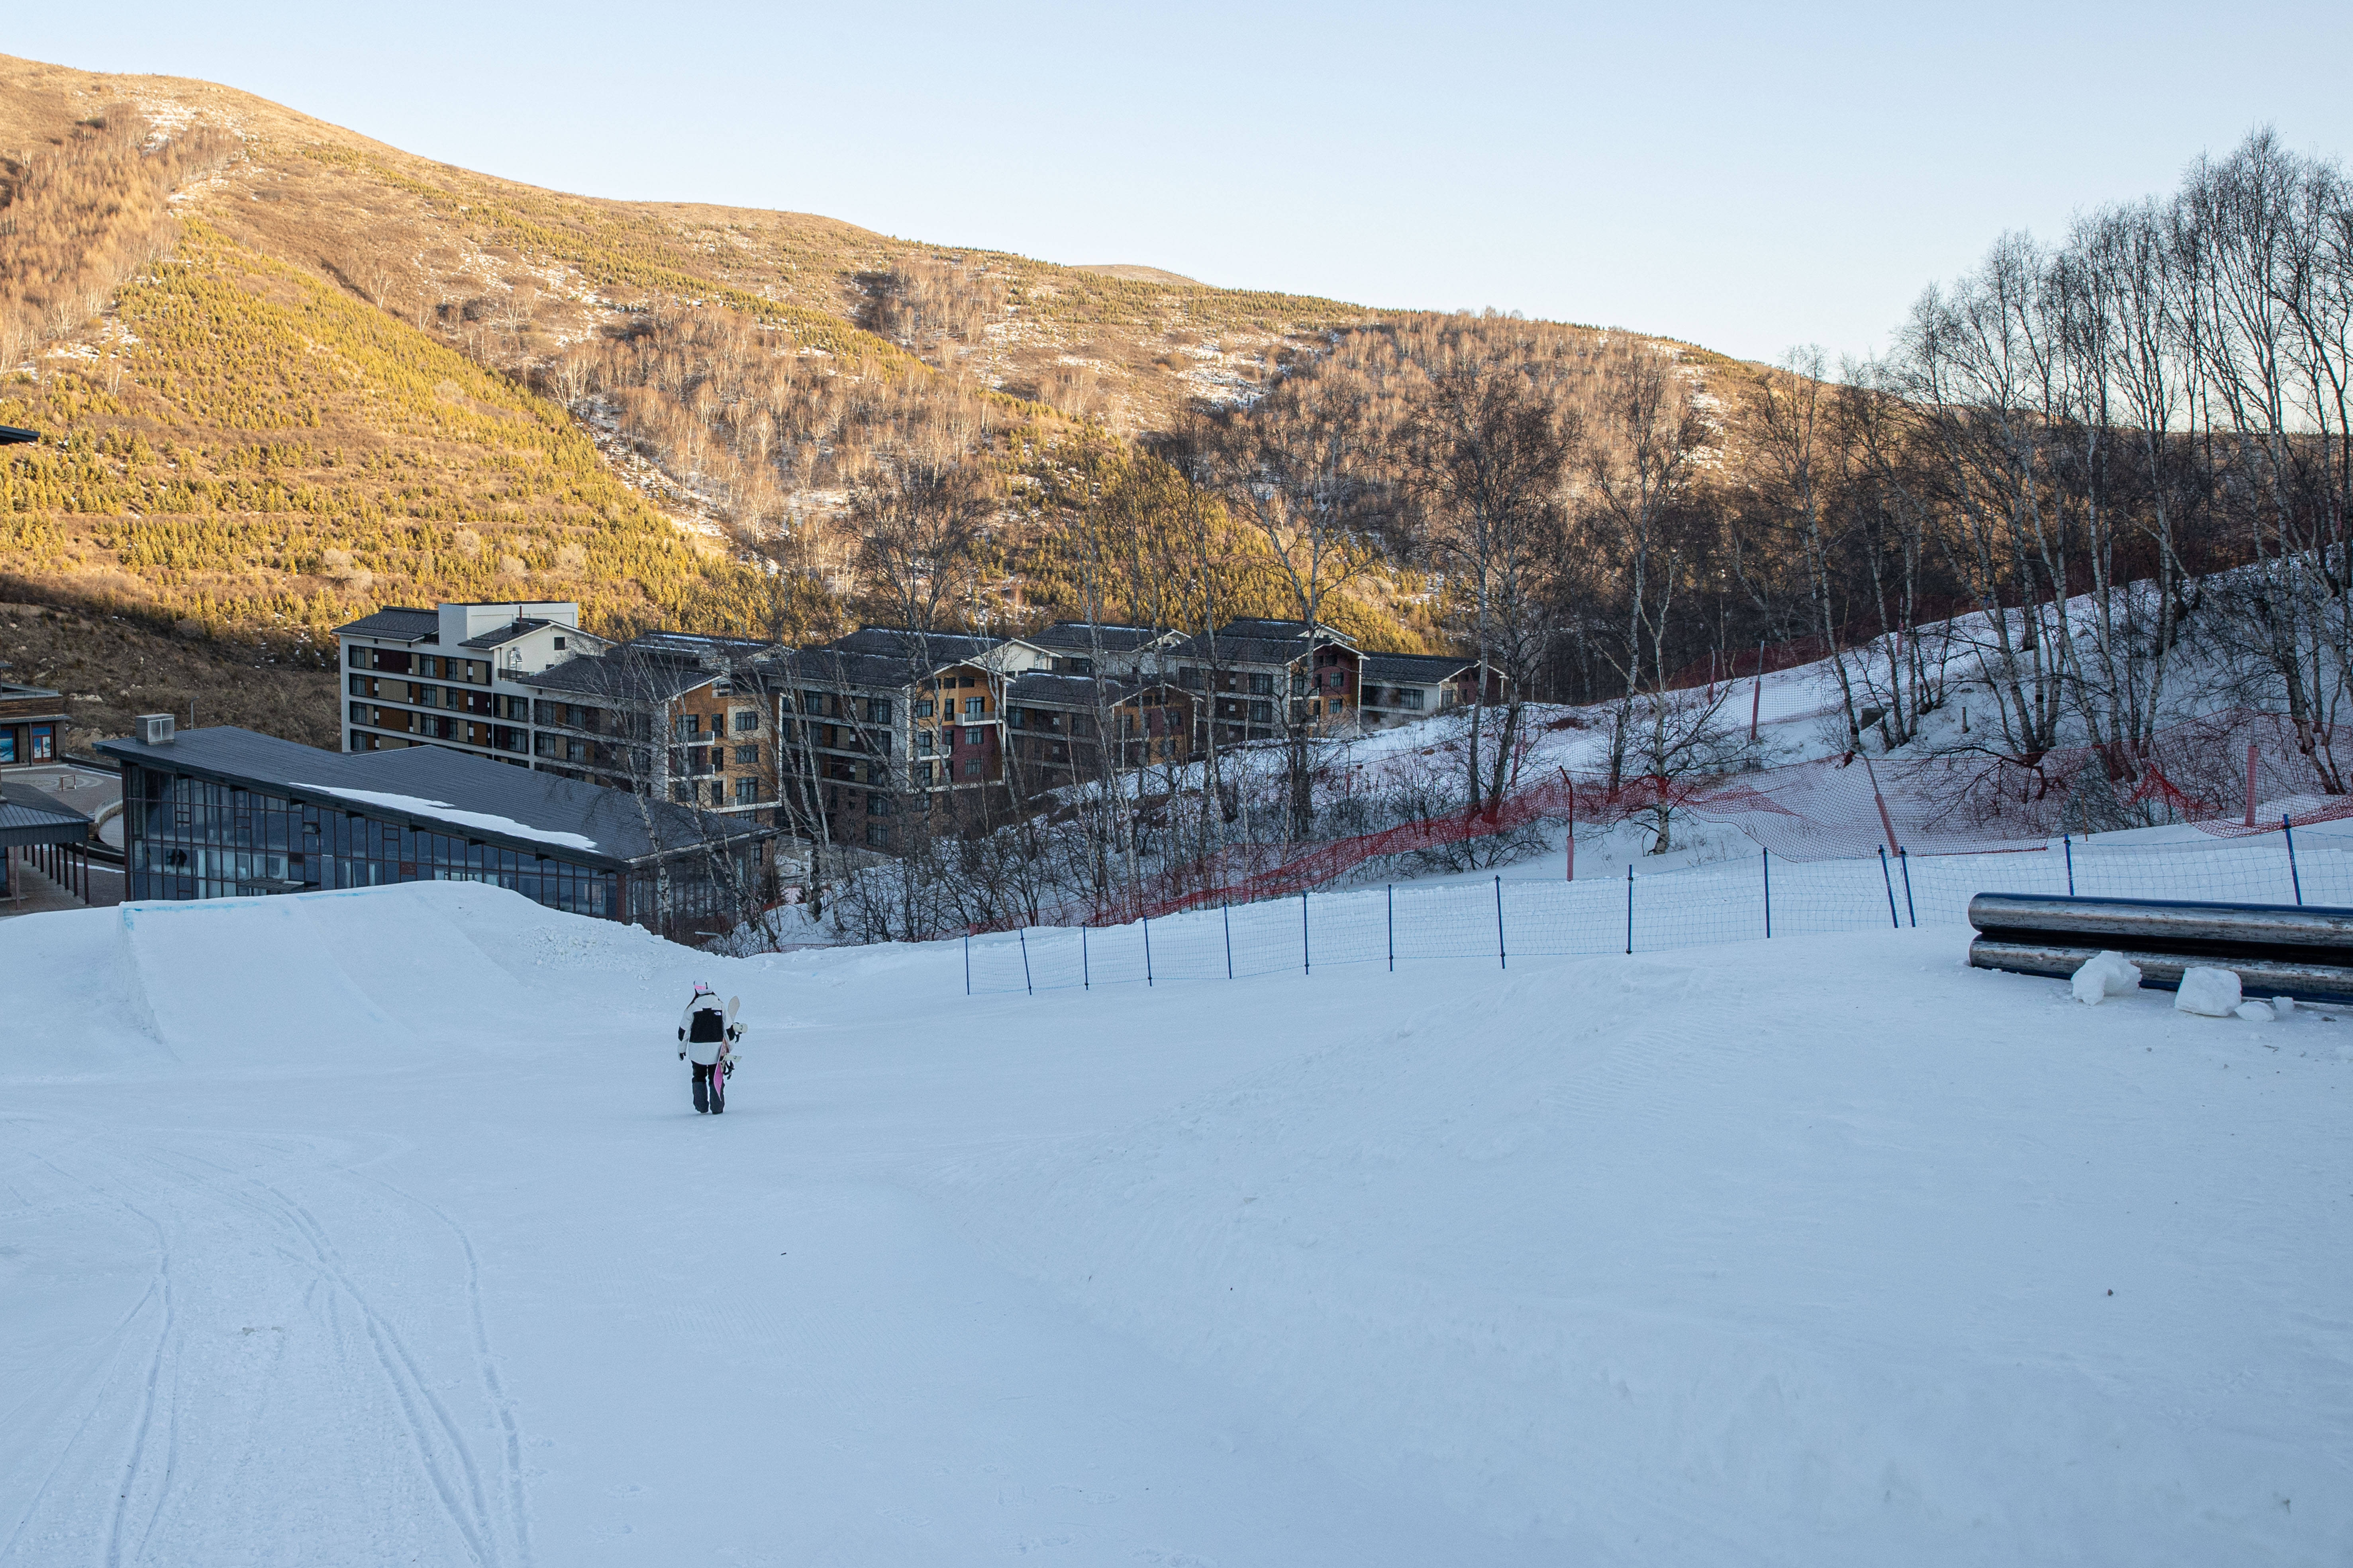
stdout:
<svg viewBox="0 0 2353 1568">
<path fill-rule="evenodd" d="M 715 936 L 767 903 L 774 827 L 440 745 L 322 752 L 139 719 L 122 764 L 125 898 L 489 882 L 574 914 Z"/>
</svg>

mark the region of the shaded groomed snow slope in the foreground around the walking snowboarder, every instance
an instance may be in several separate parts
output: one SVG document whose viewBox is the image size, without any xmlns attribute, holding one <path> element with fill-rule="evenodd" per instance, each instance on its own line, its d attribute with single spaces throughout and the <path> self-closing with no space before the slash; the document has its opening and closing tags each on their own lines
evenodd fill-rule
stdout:
<svg viewBox="0 0 2353 1568">
<path fill-rule="evenodd" d="M 2353 1018 L 0 926 L 0 1563 L 2344 1563 Z M 741 994 L 720 1119 L 692 980 Z"/>
</svg>

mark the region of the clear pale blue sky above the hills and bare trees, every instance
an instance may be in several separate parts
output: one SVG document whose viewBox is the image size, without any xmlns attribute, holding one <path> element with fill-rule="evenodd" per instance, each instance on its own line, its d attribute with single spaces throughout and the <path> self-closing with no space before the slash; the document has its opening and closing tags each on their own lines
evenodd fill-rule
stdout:
<svg viewBox="0 0 2353 1568">
<path fill-rule="evenodd" d="M 12 7 L 0 49 L 245 87 L 565 190 L 1494 306 L 1769 360 L 1885 343 L 2002 228 L 2254 125 L 2353 150 L 2353 7 Z"/>
</svg>

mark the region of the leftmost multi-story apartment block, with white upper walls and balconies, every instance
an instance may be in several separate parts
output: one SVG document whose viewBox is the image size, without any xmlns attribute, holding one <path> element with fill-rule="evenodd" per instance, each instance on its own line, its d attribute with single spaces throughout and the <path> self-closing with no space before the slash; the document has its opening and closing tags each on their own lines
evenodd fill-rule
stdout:
<svg viewBox="0 0 2353 1568">
<path fill-rule="evenodd" d="M 344 750 L 445 745 L 532 766 L 532 677 L 612 644 L 579 628 L 579 604 L 388 604 L 339 625 Z"/>
</svg>

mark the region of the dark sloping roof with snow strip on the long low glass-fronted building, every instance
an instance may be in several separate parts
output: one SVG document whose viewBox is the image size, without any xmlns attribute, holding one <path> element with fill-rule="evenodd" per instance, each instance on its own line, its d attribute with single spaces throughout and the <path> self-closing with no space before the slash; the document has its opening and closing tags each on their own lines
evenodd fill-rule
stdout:
<svg viewBox="0 0 2353 1568">
<path fill-rule="evenodd" d="M 336 811 L 431 823 L 435 830 L 485 844 L 591 865 L 624 865 L 656 853 L 678 853 L 715 837 L 767 837 L 774 832 L 744 818 L 642 799 L 626 790 L 534 773 L 438 745 L 409 745 L 393 752 L 322 752 L 315 745 L 296 745 L 224 724 L 184 729 L 169 745 L 101 741 L 99 750 L 118 762 L 240 783 Z M 379 804 L 346 792 L 395 795 L 405 802 Z M 468 816 L 506 818 L 515 827 L 464 820 Z M 647 820 L 652 820 L 652 832 L 647 832 Z M 595 849 L 555 844 L 532 837 L 529 830 L 579 835 Z"/>
</svg>

